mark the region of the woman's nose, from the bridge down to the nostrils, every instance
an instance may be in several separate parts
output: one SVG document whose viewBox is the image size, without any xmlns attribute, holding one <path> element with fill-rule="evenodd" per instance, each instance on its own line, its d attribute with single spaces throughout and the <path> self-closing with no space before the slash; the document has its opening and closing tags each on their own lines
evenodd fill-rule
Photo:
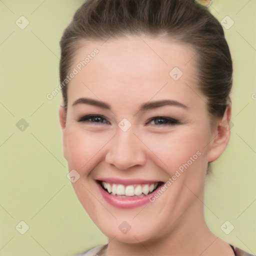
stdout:
<svg viewBox="0 0 256 256">
<path fill-rule="evenodd" d="M 107 163 L 121 170 L 145 164 L 144 144 L 133 133 L 132 129 L 122 131 L 118 128 L 116 135 L 109 142 L 109 149 L 105 156 Z"/>
</svg>

